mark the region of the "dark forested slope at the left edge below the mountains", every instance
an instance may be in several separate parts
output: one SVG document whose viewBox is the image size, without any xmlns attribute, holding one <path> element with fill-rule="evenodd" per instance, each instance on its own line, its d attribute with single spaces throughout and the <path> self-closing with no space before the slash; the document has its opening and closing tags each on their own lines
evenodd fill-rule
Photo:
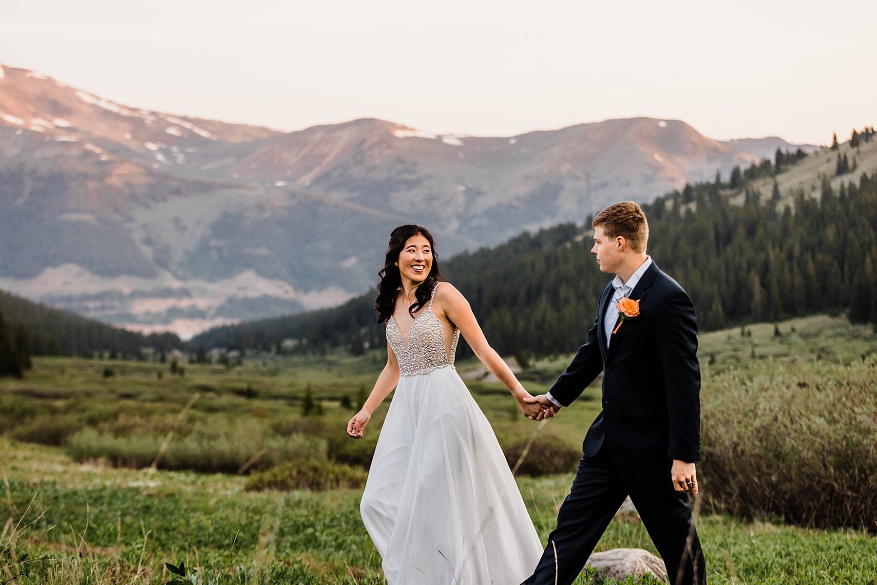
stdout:
<svg viewBox="0 0 877 585">
<path fill-rule="evenodd" d="M 170 351 L 184 344 L 173 333 L 141 335 L 80 317 L 65 310 L 32 303 L 20 296 L 0 290 L 0 314 L 11 324 L 25 325 L 32 353 L 37 355 L 85 355 L 117 352 L 131 356 L 152 348 Z"/>
</svg>

